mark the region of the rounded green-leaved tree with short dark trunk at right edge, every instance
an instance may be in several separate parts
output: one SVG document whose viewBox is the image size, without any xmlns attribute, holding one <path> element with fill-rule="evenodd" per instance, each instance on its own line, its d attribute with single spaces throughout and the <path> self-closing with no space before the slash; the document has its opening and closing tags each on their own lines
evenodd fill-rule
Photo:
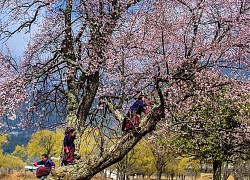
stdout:
<svg viewBox="0 0 250 180">
<path fill-rule="evenodd" d="M 250 158 L 249 105 L 224 95 L 223 91 L 212 94 L 209 100 L 193 106 L 189 115 L 179 116 L 188 123 L 173 122 L 173 130 L 177 126 L 179 133 L 173 144 L 183 154 L 212 163 L 215 179 L 221 177 L 223 163 Z M 194 114 L 198 121 L 192 119 Z"/>
</svg>

